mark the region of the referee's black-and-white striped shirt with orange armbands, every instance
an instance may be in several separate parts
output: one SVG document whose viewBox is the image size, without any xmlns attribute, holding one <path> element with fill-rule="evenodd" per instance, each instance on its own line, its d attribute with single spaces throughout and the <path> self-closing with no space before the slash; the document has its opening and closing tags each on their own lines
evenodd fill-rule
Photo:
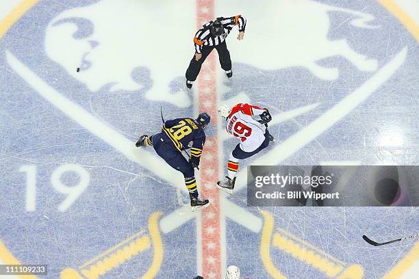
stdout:
<svg viewBox="0 0 419 279">
<path fill-rule="evenodd" d="M 201 29 L 199 29 L 194 37 L 195 51 L 201 53 L 202 46 L 216 46 L 224 42 L 227 35 L 235 25 L 238 25 L 239 31 L 246 29 L 246 18 L 242 15 L 231 16 L 229 18 L 218 18 L 224 27 L 224 33 L 221 36 L 214 36 L 211 32 L 211 25 L 214 21 L 205 23 Z"/>
</svg>

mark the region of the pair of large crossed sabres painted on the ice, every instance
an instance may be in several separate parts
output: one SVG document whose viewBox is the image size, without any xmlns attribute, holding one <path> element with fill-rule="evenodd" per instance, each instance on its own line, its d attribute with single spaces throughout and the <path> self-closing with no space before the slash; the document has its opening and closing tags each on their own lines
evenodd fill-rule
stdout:
<svg viewBox="0 0 419 279">
<path fill-rule="evenodd" d="M 333 124 L 338 122 L 340 119 L 342 119 L 346 114 L 348 114 L 352 109 L 357 107 L 360 103 L 366 100 L 368 96 L 370 96 L 375 90 L 377 90 L 381 84 L 383 84 L 385 81 L 388 81 L 392 75 L 396 72 L 396 70 L 405 62 L 405 58 L 407 56 L 407 48 L 402 49 L 397 55 L 394 55 L 394 57 L 385 64 L 381 69 L 377 70 L 377 72 L 372 75 L 372 77 L 366 81 L 363 85 L 361 85 L 357 90 L 352 92 L 351 94 L 348 94 L 340 103 L 329 109 L 325 112 L 322 116 L 314 120 L 312 123 L 308 124 L 306 127 L 301 129 L 299 132 L 295 133 L 288 139 L 285 139 L 284 142 L 281 144 L 277 144 L 272 150 L 266 153 L 266 155 L 263 155 L 259 157 L 259 159 L 256 159 L 253 164 L 278 164 L 284 159 L 292 156 L 295 152 L 297 152 L 299 149 L 303 148 L 306 144 L 311 142 L 314 138 L 316 138 L 321 133 L 325 132 L 327 129 L 329 129 Z M 147 152 L 145 150 L 140 150 L 138 148 L 128 148 L 127 146 L 132 146 L 132 143 L 129 139 L 123 137 L 123 135 L 120 135 L 117 131 L 112 129 L 109 125 L 101 122 L 97 118 L 94 118 L 88 111 L 85 109 L 79 107 L 72 101 L 68 100 L 62 94 L 57 92 L 55 89 L 51 88 L 45 81 L 42 81 L 40 77 L 38 77 L 32 70 L 27 68 L 25 64 L 20 62 L 10 51 L 6 51 L 6 58 L 9 63 L 9 65 L 13 68 L 13 70 L 23 79 L 25 80 L 29 85 L 31 85 L 43 98 L 45 98 L 47 101 L 49 101 L 51 104 L 53 104 L 55 107 L 60 109 L 66 116 L 71 118 L 72 120 L 75 120 L 77 123 L 79 123 L 82 127 L 96 135 L 97 137 L 103 139 L 105 142 L 110 144 L 110 146 L 116 148 L 116 150 L 120 151 L 127 157 L 127 159 L 138 163 L 142 168 L 149 170 L 152 172 L 157 179 L 161 179 L 162 181 L 165 181 L 166 183 L 173 185 L 177 187 L 177 189 L 180 189 L 180 191 L 186 192 L 186 189 L 183 187 L 183 181 L 181 180 L 181 177 L 176 175 L 176 171 L 168 168 L 165 164 L 162 164 L 161 159 L 157 158 L 155 155 L 152 155 L 150 152 Z M 316 105 L 311 105 L 309 107 L 303 107 L 300 109 L 296 109 L 294 111 L 289 111 L 289 114 L 282 115 L 279 114 L 277 116 L 274 116 L 274 119 L 277 119 L 277 122 L 285 121 L 290 118 L 290 115 L 295 114 L 298 115 L 300 111 L 308 111 L 310 109 L 313 109 L 316 107 Z M 277 124 L 277 122 L 273 122 L 272 124 Z M 145 163 L 147 162 L 147 164 Z M 151 165 L 162 165 L 162 168 L 164 170 L 161 170 L 160 172 L 155 172 L 155 170 L 151 169 Z M 242 189 L 244 185 L 246 185 L 246 176 L 245 171 L 242 170 L 240 174 L 238 175 L 238 185 L 237 185 L 237 191 Z M 175 178 L 175 179 L 174 179 Z M 248 228 L 249 230 L 252 230 L 254 233 L 259 233 L 260 230 L 262 230 L 262 218 L 257 217 L 250 213 L 249 211 L 246 211 L 246 209 L 243 209 L 242 207 L 239 207 L 238 205 L 234 204 L 230 200 L 227 200 L 224 196 L 220 197 L 223 200 L 223 207 L 225 208 L 225 217 L 229 217 L 229 219 L 238 222 L 242 224 L 244 227 Z M 188 209 L 189 206 L 183 206 L 180 209 L 177 209 L 173 213 L 169 213 L 166 215 L 162 220 L 160 220 L 160 229 L 163 233 L 170 233 L 170 231 L 175 230 L 182 224 L 188 222 L 189 220 L 192 220 L 196 215 L 193 215 L 192 213 L 186 213 L 186 209 Z M 181 217 L 179 217 L 179 213 L 181 214 Z M 262 213 L 264 215 L 264 213 Z M 266 216 L 265 216 L 266 218 Z M 151 231 L 151 230 L 150 230 Z M 283 231 L 282 231 L 283 233 Z M 136 236 L 138 237 L 138 236 Z M 147 237 L 143 236 L 144 238 L 139 238 L 132 240 L 133 242 L 127 242 L 129 245 L 133 245 L 134 252 L 127 252 L 125 256 L 120 256 L 118 252 L 118 248 L 114 246 L 114 248 L 111 248 L 107 251 L 107 254 L 103 254 L 103 257 L 106 258 L 106 263 L 115 264 L 116 258 L 118 260 L 125 259 L 126 261 L 129 260 L 132 256 L 127 256 L 128 254 L 132 253 L 131 255 L 134 255 L 135 253 L 139 253 L 144 249 L 148 249 L 150 247 L 150 241 L 147 240 Z M 153 234 L 150 233 L 150 237 L 153 237 Z M 270 239 L 270 238 L 268 238 Z M 281 235 L 281 230 L 278 230 L 277 233 L 275 233 L 273 238 L 273 245 L 275 247 L 278 247 L 281 250 L 284 250 L 285 252 L 288 252 L 290 254 L 295 254 L 298 258 L 298 255 L 304 254 L 308 250 L 299 250 L 299 248 L 292 248 L 295 245 L 295 239 L 292 240 L 287 238 L 287 235 Z M 266 239 L 263 239 L 266 241 Z M 153 241 L 151 241 L 153 242 Z M 268 242 L 269 243 L 269 242 Z M 124 245 L 125 243 L 123 243 Z M 155 245 L 155 243 L 153 243 Z M 122 246 L 118 246 L 122 247 Z M 157 247 L 157 245 L 155 245 Z M 264 248 L 264 245 L 261 243 L 261 256 L 262 256 L 262 250 L 266 249 Z M 265 246 L 266 247 L 266 246 Z M 130 250 L 130 249 L 128 249 Z M 294 251 L 294 252 L 293 252 Z M 296 251 L 296 252 L 295 252 Z M 299 253 L 300 254 L 299 254 Z M 308 251 L 309 252 L 309 251 Z M 307 252 L 307 253 L 308 253 Z M 314 252 L 313 252 L 314 253 Z M 293 255 L 294 255 L 293 254 Z M 118 256 L 116 256 L 118 255 Z M 266 254 L 266 251 L 264 252 L 265 256 L 262 256 L 262 261 L 264 262 L 265 267 L 273 267 L 272 261 L 266 261 L 267 259 L 270 259 L 269 253 Z M 110 259 L 109 259 L 110 258 Z M 316 258 L 316 254 L 314 254 L 314 258 Z M 329 257 L 330 258 L 330 257 Z M 99 259 L 98 259 L 99 260 Z M 99 276 L 103 272 L 106 272 L 106 269 L 103 269 L 103 261 L 98 261 L 96 263 L 91 261 L 88 262 L 88 265 L 82 265 L 80 267 L 81 274 L 88 274 L 88 272 L 92 272 L 92 275 Z M 99 263 L 101 262 L 101 263 Z M 266 265 L 268 263 L 268 265 Z M 308 262 L 307 262 L 308 263 Z M 327 265 L 330 265 L 329 262 L 326 262 Z M 344 268 L 344 265 L 338 265 L 339 263 L 333 263 L 335 266 L 335 269 L 333 269 L 336 274 L 339 274 L 340 272 L 340 266 L 342 266 L 342 269 Z M 314 265 L 315 268 L 319 269 L 320 271 L 323 270 L 322 264 Z M 351 269 L 352 267 L 352 269 Z M 356 266 L 355 266 L 356 267 Z M 346 276 L 348 273 L 358 272 L 359 267 L 347 267 L 338 278 L 353 278 L 353 277 L 342 277 Z M 93 270 L 92 270 L 93 269 Z M 158 269 L 158 268 L 157 268 Z M 267 268 L 268 269 L 268 268 Z M 355 271 L 353 271 L 355 269 Z M 66 269 L 68 273 L 76 272 L 79 274 L 75 269 Z M 277 271 L 275 273 L 274 271 Z M 281 274 L 278 273 L 278 269 L 272 269 L 272 271 L 268 270 L 268 273 L 273 278 L 285 278 Z M 329 273 L 328 276 L 335 276 L 335 273 Z M 65 274 L 65 273 L 64 273 Z M 352 276 L 352 274 L 348 274 Z M 81 277 L 82 278 L 82 277 Z M 150 277 L 153 278 L 153 277 Z M 354 277 L 357 278 L 357 277 Z"/>
</svg>

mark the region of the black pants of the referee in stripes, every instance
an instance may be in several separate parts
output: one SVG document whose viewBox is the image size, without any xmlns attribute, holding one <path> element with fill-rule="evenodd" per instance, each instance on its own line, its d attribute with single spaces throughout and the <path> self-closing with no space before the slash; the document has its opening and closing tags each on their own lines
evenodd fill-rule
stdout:
<svg viewBox="0 0 419 279">
<path fill-rule="evenodd" d="M 198 61 L 194 57 L 190 60 L 190 64 L 188 70 L 186 70 L 186 79 L 188 81 L 195 81 L 196 77 L 198 77 L 199 71 L 201 70 L 201 66 L 208 55 L 210 55 L 213 49 L 216 49 L 218 52 L 218 58 L 220 59 L 221 68 L 223 70 L 231 70 L 231 58 L 229 50 L 227 49 L 227 44 L 225 41 L 218 44 L 217 46 L 203 46 L 202 47 L 202 57 Z"/>
</svg>

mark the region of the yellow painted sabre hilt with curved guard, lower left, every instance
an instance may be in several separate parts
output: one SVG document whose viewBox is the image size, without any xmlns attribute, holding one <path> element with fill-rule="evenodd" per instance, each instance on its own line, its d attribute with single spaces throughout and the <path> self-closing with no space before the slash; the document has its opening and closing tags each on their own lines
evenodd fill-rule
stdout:
<svg viewBox="0 0 419 279">
<path fill-rule="evenodd" d="M 158 229 L 158 218 L 162 212 L 153 213 L 149 217 L 149 235 L 145 235 L 145 230 L 132 235 L 128 239 L 118 243 L 109 250 L 95 256 L 84 265 L 76 269 L 66 268 L 61 271 L 61 279 L 97 279 L 112 269 L 115 269 L 151 248 L 153 245 L 153 262 L 149 270 L 142 276 L 142 279 L 154 278 L 162 265 L 163 243 Z"/>
</svg>

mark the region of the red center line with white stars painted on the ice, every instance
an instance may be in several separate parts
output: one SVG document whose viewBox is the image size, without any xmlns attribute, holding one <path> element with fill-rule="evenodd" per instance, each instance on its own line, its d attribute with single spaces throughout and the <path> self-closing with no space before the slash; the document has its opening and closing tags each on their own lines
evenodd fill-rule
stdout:
<svg viewBox="0 0 419 279">
<path fill-rule="evenodd" d="M 196 27 L 214 18 L 214 0 L 196 1 Z M 214 51 L 207 57 L 198 78 L 199 111 L 211 116 L 217 124 L 216 59 Z M 204 278 L 222 278 L 220 241 L 220 193 L 214 184 L 218 180 L 218 139 L 209 137 L 205 141 L 201 158 L 201 192 L 211 202 L 201 213 L 202 273 Z"/>
</svg>

